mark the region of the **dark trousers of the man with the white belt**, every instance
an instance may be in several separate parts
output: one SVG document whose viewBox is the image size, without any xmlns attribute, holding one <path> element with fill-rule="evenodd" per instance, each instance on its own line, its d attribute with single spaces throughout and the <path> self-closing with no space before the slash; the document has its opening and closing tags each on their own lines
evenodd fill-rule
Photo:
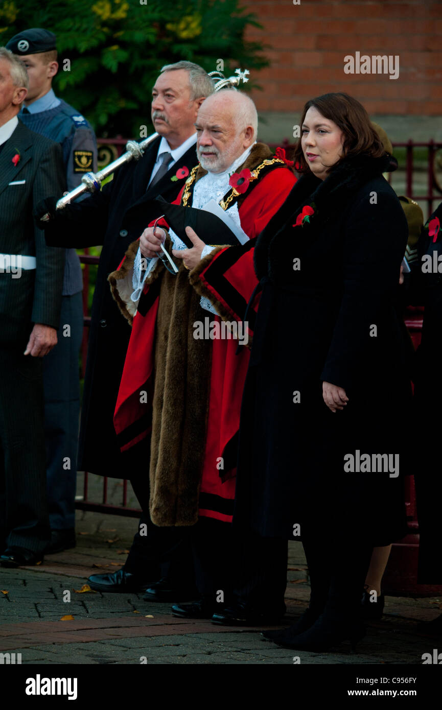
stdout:
<svg viewBox="0 0 442 710">
<path fill-rule="evenodd" d="M 43 552 L 50 541 L 43 360 L 24 356 L 25 346 L 0 347 L 0 533 L 6 547 Z"/>
</svg>

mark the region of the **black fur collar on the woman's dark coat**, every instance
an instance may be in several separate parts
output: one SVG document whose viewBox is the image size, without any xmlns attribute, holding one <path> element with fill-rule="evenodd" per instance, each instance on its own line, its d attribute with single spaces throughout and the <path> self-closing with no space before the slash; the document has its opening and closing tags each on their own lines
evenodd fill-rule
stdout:
<svg viewBox="0 0 442 710">
<path fill-rule="evenodd" d="M 259 279 L 267 273 L 267 252 L 271 239 L 289 222 L 291 225 L 306 204 L 315 205 L 316 227 L 330 219 L 333 214 L 343 212 L 348 202 L 362 185 L 386 172 L 390 165 L 389 155 L 370 158 L 357 155 L 343 160 L 325 180 L 319 180 L 313 173 L 306 173 L 293 185 L 289 196 L 278 212 L 257 237 L 254 249 L 254 267 Z"/>
</svg>

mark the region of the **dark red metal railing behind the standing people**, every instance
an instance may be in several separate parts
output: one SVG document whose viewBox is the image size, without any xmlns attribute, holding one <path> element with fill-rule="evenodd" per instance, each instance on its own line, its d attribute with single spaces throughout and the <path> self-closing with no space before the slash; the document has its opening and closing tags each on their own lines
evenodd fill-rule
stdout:
<svg viewBox="0 0 442 710">
<path fill-rule="evenodd" d="M 118 137 L 108 141 L 107 139 L 99 139 L 99 154 L 105 153 L 106 148 L 109 147 L 108 152 L 111 154 L 110 158 L 115 159 L 123 152 L 124 146 L 126 145 L 126 140 L 124 138 Z M 276 148 L 278 144 L 271 146 Z M 282 148 L 292 148 L 293 145 L 289 143 L 287 138 L 284 139 L 279 145 Z M 421 202 L 426 202 L 428 215 L 433 212 L 433 202 L 442 200 L 442 190 L 441 186 L 438 185 L 435 175 L 435 154 L 436 151 L 442 148 L 442 143 L 436 143 L 435 141 L 428 141 L 428 143 L 414 143 L 414 141 L 406 141 L 406 143 L 394 143 L 394 148 L 405 148 L 406 149 L 406 160 L 405 160 L 405 182 L 406 182 L 406 195 L 411 197 L 413 200 L 419 200 Z M 425 195 L 418 195 L 414 190 L 414 175 L 416 170 L 414 169 L 414 148 L 426 148 L 428 150 L 427 162 L 426 162 L 426 172 L 428 174 L 427 182 L 427 192 Z M 113 157 L 112 157 L 113 156 Z M 109 160 L 107 160 L 109 162 Z M 399 166 L 400 168 L 400 166 Z M 422 168 L 421 168 L 422 171 Z M 442 172 L 442 163 L 441 163 Z M 90 285 L 90 266 L 96 266 L 99 257 L 90 256 L 89 251 L 85 249 L 85 253 L 80 256 L 80 261 L 85 264 L 83 270 L 84 286 L 83 286 L 83 307 L 85 313 L 85 329 L 82 341 L 82 373 L 85 374 L 85 363 L 87 356 L 87 328 L 90 326 L 90 316 L 89 314 L 89 285 Z M 406 326 L 411 334 L 411 339 L 416 347 L 419 344 L 421 337 L 421 328 L 423 320 L 423 309 L 421 307 L 409 308 L 406 313 Z M 117 515 L 132 515 L 138 516 L 140 513 L 139 508 L 129 508 L 127 506 L 127 481 L 123 479 L 122 485 L 122 505 L 114 505 L 107 502 L 108 498 L 108 488 L 107 488 L 107 477 L 103 476 L 103 489 L 102 489 L 102 501 L 90 501 L 88 498 L 88 474 L 85 471 L 85 479 L 83 486 L 83 497 L 82 501 L 76 501 L 75 505 L 77 508 L 82 510 L 102 510 L 109 513 L 114 513 Z M 414 482 L 410 479 L 407 482 L 407 511 L 410 519 L 411 527 L 416 528 L 416 505 L 414 497 Z"/>
</svg>

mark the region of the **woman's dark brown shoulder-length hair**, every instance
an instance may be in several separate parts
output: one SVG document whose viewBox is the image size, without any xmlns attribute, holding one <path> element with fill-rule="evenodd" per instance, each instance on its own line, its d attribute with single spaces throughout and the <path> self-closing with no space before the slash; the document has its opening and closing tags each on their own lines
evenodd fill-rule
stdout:
<svg viewBox="0 0 442 710">
<path fill-rule="evenodd" d="M 325 119 L 333 121 L 344 133 L 343 155 L 331 168 L 335 168 L 342 160 L 354 155 L 381 158 L 385 154 L 384 146 L 372 126 L 367 111 L 357 99 L 344 93 L 323 94 L 316 99 L 310 99 L 303 108 L 301 130 L 306 113 L 312 106 L 318 109 Z M 310 168 L 301 147 L 301 138 L 295 148 L 294 160 L 300 165 L 300 173 L 309 172 Z"/>
</svg>

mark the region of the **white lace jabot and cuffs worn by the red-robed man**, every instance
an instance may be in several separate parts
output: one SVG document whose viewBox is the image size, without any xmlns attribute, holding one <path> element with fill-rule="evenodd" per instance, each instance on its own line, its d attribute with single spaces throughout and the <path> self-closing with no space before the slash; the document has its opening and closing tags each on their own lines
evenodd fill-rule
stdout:
<svg viewBox="0 0 442 710">
<path fill-rule="evenodd" d="M 239 158 L 237 158 L 234 163 L 232 163 L 232 165 L 230 165 L 230 167 L 224 171 L 224 173 L 207 173 L 207 175 L 204 175 L 203 178 L 198 180 L 198 182 L 195 183 L 195 189 L 193 190 L 192 207 L 195 207 L 196 209 L 201 209 L 210 200 L 216 200 L 216 202 L 219 204 L 222 198 L 230 190 L 229 180 L 231 175 L 235 173 L 235 170 L 239 168 L 239 165 L 242 165 L 242 163 L 247 160 L 247 157 L 249 156 L 252 147 L 253 146 L 249 146 L 249 148 L 247 148 L 244 153 L 242 153 L 242 155 L 239 155 Z M 235 202 L 232 207 L 228 207 L 227 211 L 229 212 L 230 217 L 232 217 L 237 226 L 241 227 L 241 219 L 239 217 L 237 203 Z M 247 239 L 249 239 L 247 234 L 245 234 L 244 232 L 243 234 Z M 181 241 L 179 236 L 177 236 L 172 229 L 169 230 L 169 236 L 172 240 L 173 249 L 188 249 L 188 247 L 185 246 L 184 242 Z M 201 239 L 203 239 L 204 241 L 203 236 L 201 237 Z M 207 256 L 207 254 L 209 254 L 212 249 L 212 246 L 206 244 L 203 249 L 203 253 L 201 254 L 201 258 L 203 259 L 205 256 Z M 134 288 L 134 292 L 131 295 L 131 300 L 134 302 L 137 302 L 139 300 L 141 292 L 143 290 L 144 280 L 156 266 L 158 257 L 155 256 L 149 259 L 148 261 L 149 265 L 146 271 L 141 271 L 141 251 L 138 250 L 136 252 L 136 257 L 134 261 L 134 273 L 132 277 L 132 286 Z M 216 313 L 215 308 L 212 306 L 210 301 L 204 296 L 201 297 L 200 305 L 205 310 L 208 310 L 212 313 Z"/>
</svg>

